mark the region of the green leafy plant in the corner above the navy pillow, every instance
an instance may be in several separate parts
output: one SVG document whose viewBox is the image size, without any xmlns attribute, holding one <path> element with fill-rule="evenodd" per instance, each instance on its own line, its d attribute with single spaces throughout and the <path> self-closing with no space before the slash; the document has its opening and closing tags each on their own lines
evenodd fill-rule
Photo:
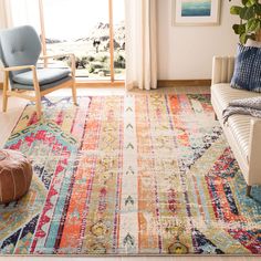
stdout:
<svg viewBox="0 0 261 261">
<path fill-rule="evenodd" d="M 231 1 L 231 0 L 229 0 Z M 248 39 L 261 42 L 261 3 L 260 0 L 241 0 L 242 6 L 232 6 L 230 13 L 239 15 L 240 23 L 233 24 L 233 31 L 239 34 L 244 44 Z"/>
</svg>

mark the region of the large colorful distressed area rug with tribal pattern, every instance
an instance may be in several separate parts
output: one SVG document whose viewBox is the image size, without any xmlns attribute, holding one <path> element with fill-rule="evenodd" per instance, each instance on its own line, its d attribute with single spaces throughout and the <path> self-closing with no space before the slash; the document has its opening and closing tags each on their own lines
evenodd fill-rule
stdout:
<svg viewBox="0 0 261 261">
<path fill-rule="evenodd" d="M 0 206 L 1 254 L 261 253 L 261 189 L 246 197 L 209 95 L 43 103 L 6 145 L 34 177 Z"/>
</svg>

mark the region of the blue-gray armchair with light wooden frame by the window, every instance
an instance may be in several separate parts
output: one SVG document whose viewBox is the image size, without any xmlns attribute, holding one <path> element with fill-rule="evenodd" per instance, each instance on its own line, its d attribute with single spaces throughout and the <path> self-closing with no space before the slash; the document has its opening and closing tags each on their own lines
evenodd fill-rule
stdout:
<svg viewBox="0 0 261 261">
<path fill-rule="evenodd" d="M 17 96 L 35 102 L 38 117 L 41 117 L 41 97 L 62 87 L 71 87 L 76 105 L 75 56 L 61 54 L 42 56 L 41 42 L 32 27 L 23 25 L 0 31 L 0 60 L 3 63 L 3 112 L 7 111 L 8 97 Z M 71 69 L 48 67 L 48 59 L 69 56 Z M 39 59 L 44 60 L 44 67 L 39 69 Z M 33 91 L 34 95 L 30 95 Z"/>
</svg>

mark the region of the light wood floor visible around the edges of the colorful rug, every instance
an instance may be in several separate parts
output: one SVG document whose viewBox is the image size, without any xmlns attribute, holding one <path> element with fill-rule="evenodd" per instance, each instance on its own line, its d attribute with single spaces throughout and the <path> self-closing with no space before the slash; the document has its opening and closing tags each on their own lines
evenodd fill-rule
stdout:
<svg viewBox="0 0 261 261">
<path fill-rule="evenodd" d="M 135 91 L 130 93 L 143 94 L 146 93 L 144 91 Z M 176 88 L 159 88 L 156 91 L 150 91 L 149 93 L 209 93 L 209 87 L 176 87 Z M 124 88 L 80 88 L 77 91 L 77 95 L 124 95 Z M 70 90 L 62 90 L 51 95 L 71 95 Z M 7 113 L 0 113 L 0 148 L 4 145 L 7 138 L 9 137 L 11 130 L 13 129 L 15 123 L 18 122 L 27 101 L 12 97 L 9 100 L 9 106 Z M 0 111 L 2 107 L 2 96 L 0 91 Z M 60 259 L 60 261 L 258 261 L 261 260 L 261 257 L 250 258 L 250 257 L 115 257 L 115 258 L 51 258 L 51 257 L 0 257 L 0 261 L 55 261 Z"/>
</svg>

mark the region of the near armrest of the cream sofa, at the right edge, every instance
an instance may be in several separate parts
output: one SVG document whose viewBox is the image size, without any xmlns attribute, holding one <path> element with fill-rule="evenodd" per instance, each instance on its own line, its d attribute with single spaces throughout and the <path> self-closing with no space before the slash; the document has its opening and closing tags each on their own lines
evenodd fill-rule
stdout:
<svg viewBox="0 0 261 261">
<path fill-rule="evenodd" d="M 261 182 L 261 119 L 252 118 L 249 140 L 249 185 Z"/>
</svg>

